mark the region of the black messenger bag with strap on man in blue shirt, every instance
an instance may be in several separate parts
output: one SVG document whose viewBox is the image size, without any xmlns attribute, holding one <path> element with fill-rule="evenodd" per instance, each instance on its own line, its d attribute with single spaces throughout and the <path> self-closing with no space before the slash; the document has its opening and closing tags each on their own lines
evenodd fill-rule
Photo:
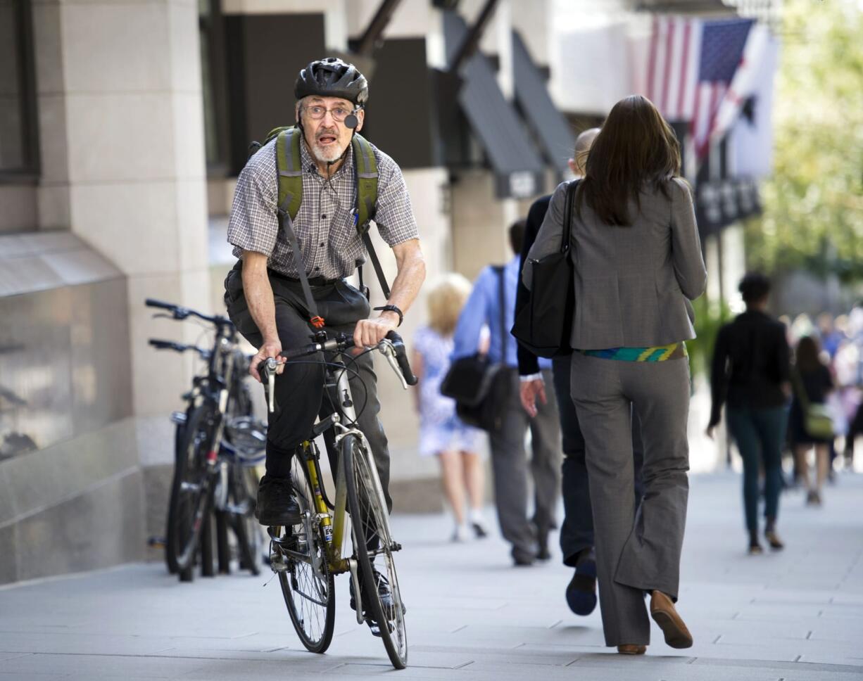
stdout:
<svg viewBox="0 0 863 681">
<path fill-rule="evenodd" d="M 498 296 L 501 300 L 501 362 L 493 363 L 488 355 L 480 353 L 461 357 L 450 365 L 440 385 L 441 394 L 456 401 L 456 414 L 463 422 L 489 433 L 501 429 L 506 418 L 504 405 L 512 390 L 511 372 L 507 371 L 504 268 L 494 267 L 494 272 L 498 275 Z"/>
</svg>

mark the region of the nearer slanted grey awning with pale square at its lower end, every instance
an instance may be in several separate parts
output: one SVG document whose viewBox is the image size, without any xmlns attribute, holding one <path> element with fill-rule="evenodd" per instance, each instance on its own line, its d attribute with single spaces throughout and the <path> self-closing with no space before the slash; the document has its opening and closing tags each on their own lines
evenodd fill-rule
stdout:
<svg viewBox="0 0 863 681">
<path fill-rule="evenodd" d="M 447 55 L 452 59 L 468 29 L 455 12 L 444 12 Z M 526 198 L 543 189 L 545 166 L 520 121 L 507 102 L 488 59 L 476 53 L 464 62 L 458 103 L 470 128 L 482 143 L 496 175 L 501 197 Z"/>
</svg>

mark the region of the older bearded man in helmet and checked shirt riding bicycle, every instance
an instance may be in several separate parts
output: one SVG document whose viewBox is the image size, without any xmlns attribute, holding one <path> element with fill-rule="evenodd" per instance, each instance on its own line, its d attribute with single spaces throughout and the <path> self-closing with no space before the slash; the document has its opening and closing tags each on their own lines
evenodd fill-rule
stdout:
<svg viewBox="0 0 863 681">
<path fill-rule="evenodd" d="M 356 135 L 369 98 L 366 78 L 341 59 L 321 59 L 299 72 L 294 94 L 296 127 L 282 129 L 249 159 L 230 211 L 228 241 L 239 259 L 225 279 L 225 303 L 236 328 L 258 348 L 249 370 L 258 379 L 262 360 L 308 343 L 321 328 L 352 335 L 357 347 L 380 342 L 400 324 L 425 278 L 400 168 Z M 369 241 L 363 233 L 372 218 L 393 249 L 398 274 L 387 305 L 369 319 L 367 295 L 344 278 L 365 261 Z M 351 383 L 362 408 L 357 422 L 391 507 L 387 437 L 378 420 L 370 355 L 356 365 Z M 280 409 L 270 415 L 267 474 L 256 509 L 264 525 L 298 522 L 291 458 L 309 439 L 318 413 L 332 411 L 324 403 L 320 362 L 289 361 L 280 368 L 275 388 Z"/>
</svg>

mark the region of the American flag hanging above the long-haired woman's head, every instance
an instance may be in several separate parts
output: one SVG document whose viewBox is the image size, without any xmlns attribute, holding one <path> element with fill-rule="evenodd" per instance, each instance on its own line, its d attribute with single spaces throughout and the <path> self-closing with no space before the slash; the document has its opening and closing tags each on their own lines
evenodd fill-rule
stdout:
<svg viewBox="0 0 863 681">
<path fill-rule="evenodd" d="M 733 82 L 744 62 L 752 19 L 704 21 L 655 16 L 647 52 L 645 94 L 669 121 L 690 121 L 696 157 L 734 122 Z M 723 116 L 717 116 L 720 110 Z M 723 128 L 724 127 L 724 128 Z"/>
</svg>

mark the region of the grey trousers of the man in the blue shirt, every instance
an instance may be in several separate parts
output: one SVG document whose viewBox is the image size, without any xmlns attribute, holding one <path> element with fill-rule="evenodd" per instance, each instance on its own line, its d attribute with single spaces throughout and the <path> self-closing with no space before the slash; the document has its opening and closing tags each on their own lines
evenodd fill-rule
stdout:
<svg viewBox="0 0 863 681">
<path fill-rule="evenodd" d="M 531 419 L 519 399 L 519 376 L 511 375 L 510 394 L 504 406 L 506 416 L 501 430 L 488 435 L 494 473 L 494 503 L 501 534 L 513 545 L 513 556 L 535 553 L 536 533 L 547 532 L 555 524 L 557 496 L 560 493 L 560 425 L 553 390 L 546 390 L 548 403 L 538 405 Z M 543 372 L 551 384 L 551 372 Z M 533 480 L 533 517 L 527 517 L 528 461 L 525 435 L 531 430 Z"/>
</svg>

